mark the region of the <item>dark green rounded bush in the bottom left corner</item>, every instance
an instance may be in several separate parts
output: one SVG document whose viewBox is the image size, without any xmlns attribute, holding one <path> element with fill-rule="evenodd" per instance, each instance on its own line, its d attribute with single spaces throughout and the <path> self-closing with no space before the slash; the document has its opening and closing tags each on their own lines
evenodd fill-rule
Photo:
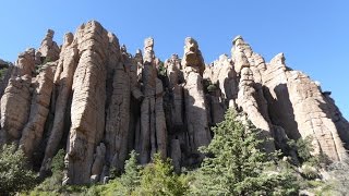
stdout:
<svg viewBox="0 0 349 196">
<path fill-rule="evenodd" d="M 15 192 L 34 187 L 36 175 L 27 169 L 26 158 L 15 145 L 3 145 L 0 149 L 0 193 L 13 195 Z"/>
</svg>

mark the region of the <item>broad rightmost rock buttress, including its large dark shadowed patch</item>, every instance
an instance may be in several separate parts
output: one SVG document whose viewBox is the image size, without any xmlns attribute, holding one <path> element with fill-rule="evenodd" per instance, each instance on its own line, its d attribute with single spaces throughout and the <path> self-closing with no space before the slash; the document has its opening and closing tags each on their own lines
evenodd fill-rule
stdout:
<svg viewBox="0 0 349 196">
<path fill-rule="evenodd" d="M 266 73 L 263 81 L 269 90 L 273 122 L 287 130 L 291 138 L 313 137 L 314 154 L 322 151 L 332 160 L 346 159 L 348 155 L 329 114 L 330 110 L 324 107 L 330 105 L 317 84 L 303 73 L 287 69 L 282 53 L 270 61 Z"/>
</svg>

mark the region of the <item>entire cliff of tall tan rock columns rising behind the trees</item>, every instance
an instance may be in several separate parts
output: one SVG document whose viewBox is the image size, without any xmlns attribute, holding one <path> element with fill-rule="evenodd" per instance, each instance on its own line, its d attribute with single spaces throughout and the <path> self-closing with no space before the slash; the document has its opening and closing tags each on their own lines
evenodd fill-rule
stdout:
<svg viewBox="0 0 349 196">
<path fill-rule="evenodd" d="M 43 175 L 67 149 L 68 184 L 122 171 L 132 149 L 143 164 L 159 152 L 180 171 L 200 163 L 197 148 L 233 108 L 274 138 L 267 151 L 282 149 L 285 138 L 312 136 L 315 154 L 348 157 L 348 121 L 328 93 L 287 68 L 282 53 L 265 62 L 238 36 L 230 58 L 206 65 L 193 38 L 185 38 L 182 58 L 165 62 L 154 45 L 147 38 L 143 53 L 132 56 L 95 21 L 67 34 L 60 47 L 48 30 L 39 49 L 21 53 L 2 79 L 0 145 L 17 144 Z"/>
</svg>

